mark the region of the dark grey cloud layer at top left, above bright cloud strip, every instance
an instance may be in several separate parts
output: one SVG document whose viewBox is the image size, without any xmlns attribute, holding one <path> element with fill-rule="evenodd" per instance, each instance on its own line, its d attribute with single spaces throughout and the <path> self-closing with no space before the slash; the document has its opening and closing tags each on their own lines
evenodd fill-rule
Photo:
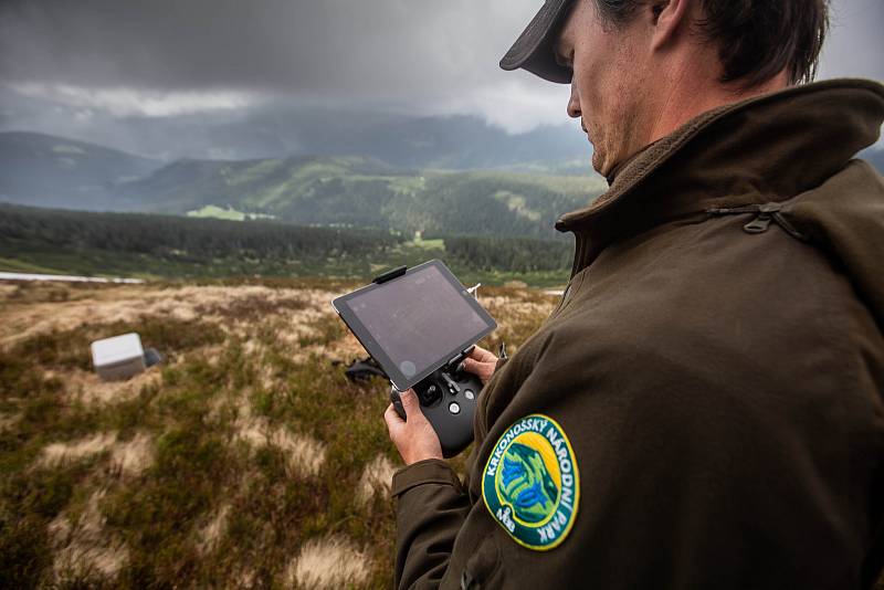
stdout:
<svg viewBox="0 0 884 590">
<path fill-rule="evenodd" d="M 27 0 L 0 9 L 0 75 L 77 86 L 343 97 L 465 88 L 535 2 Z"/>
</svg>

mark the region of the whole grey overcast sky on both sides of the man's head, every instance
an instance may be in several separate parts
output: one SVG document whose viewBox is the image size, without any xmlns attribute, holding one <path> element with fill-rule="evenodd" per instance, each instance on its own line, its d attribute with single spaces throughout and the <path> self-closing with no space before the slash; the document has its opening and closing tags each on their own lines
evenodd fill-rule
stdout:
<svg viewBox="0 0 884 590">
<path fill-rule="evenodd" d="M 524 131 L 566 118 L 566 86 L 497 67 L 540 3 L 2 0 L 2 126 L 27 126 L 12 98 L 28 98 L 95 125 L 303 102 Z M 884 0 L 832 7 L 820 77 L 884 80 Z"/>
</svg>

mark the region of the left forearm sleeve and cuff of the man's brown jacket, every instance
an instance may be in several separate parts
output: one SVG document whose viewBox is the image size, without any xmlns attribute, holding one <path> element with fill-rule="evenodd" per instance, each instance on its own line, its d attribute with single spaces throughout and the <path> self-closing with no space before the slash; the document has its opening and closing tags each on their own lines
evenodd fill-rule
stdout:
<svg viewBox="0 0 884 590">
<path fill-rule="evenodd" d="M 438 588 L 454 539 L 470 512 L 470 496 L 442 460 L 419 461 L 393 475 L 396 588 Z"/>
</svg>

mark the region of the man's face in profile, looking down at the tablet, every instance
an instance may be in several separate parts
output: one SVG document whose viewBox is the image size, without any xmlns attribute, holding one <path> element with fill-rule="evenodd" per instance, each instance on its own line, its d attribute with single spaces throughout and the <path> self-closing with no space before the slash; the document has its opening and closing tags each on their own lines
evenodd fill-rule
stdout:
<svg viewBox="0 0 884 590">
<path fill-rule="evenodd" d="M 641 18 L 603 25 L 594 0 L 577 0 L 559 36 L 559 60 L 573 70 L 568 115 L 580 117 L 601 175 L 645 145 L 646 46 Z"/>
</svg>

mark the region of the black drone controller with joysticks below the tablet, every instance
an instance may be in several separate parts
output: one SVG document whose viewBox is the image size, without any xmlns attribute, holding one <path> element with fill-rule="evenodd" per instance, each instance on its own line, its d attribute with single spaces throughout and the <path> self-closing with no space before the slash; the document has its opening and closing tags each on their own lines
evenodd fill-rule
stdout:
<svg viewBox="0 0 884 590">
<path fill-rule="evenodd" d="M 423 415 L 439 435 L 442 455 L 445 457 L 456 455 L 473 441 L 473 417 L 476 413 L 482 381 L 475 375 L 460 369 L 460 362 L 465 356 L 436 369 L 413 387 Z M 399 417 L 408 420 L 399 393 L 392 387 L 390 401 Z"/>
</svg>

